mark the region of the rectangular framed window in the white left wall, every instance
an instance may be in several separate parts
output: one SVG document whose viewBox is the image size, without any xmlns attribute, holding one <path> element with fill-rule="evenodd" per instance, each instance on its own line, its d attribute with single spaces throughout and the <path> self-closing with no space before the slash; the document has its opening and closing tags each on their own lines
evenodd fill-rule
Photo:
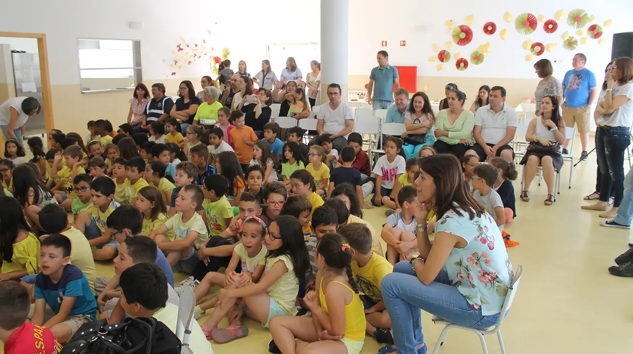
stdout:
<svg viewBox="0 0 633 354">
<path fill-rule="evenodd" d="M 134 89 L 142 82 L 141 41 L 78 39 L 82 92 Z"/>
</svg>

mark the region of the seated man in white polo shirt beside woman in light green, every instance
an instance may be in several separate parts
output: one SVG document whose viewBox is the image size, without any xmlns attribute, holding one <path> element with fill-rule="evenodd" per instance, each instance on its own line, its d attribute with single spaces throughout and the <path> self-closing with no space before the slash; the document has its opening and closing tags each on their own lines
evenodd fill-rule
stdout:
<svg viewBox="0 0 633 354">
<path fill-rule="evenodd" d="M 492 87 L 488 101 L 489 104 L 478 109 L 475 114 L 473 137 L 477 144 L 466 155 L 479 156 L 480 161 L 501 156 L 512 162 L 514 150 L 508 144 L 517 132 L 517 111 L 505 104 L 506 89 L 501 86 Z"/>
</svg>

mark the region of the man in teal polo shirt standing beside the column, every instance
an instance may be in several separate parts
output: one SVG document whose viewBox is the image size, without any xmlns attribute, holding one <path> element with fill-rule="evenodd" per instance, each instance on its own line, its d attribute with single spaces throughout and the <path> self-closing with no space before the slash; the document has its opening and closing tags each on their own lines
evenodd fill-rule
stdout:
<svg viewBox="0 0 633 354">
<path fill-rule="evenodd" d="M 400 76 L 398 69 L 389 65 L 389 54 L 386 51 L 379 51 L 376 59 L 378 66 L 373 68 L 369 75 L 367 102 L 373 106 L 373 109 L 387 109 L 394 102 L 394 85 L 396 85 L 396 90 L 400 88 Z"/>
</svg>

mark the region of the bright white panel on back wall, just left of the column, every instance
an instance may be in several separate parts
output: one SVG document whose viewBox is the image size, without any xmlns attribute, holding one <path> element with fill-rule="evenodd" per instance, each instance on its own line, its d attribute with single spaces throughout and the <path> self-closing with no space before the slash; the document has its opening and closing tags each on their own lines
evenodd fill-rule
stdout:
<svg viewBox="0 0 633 354">
<path fill-rule="evenodd" d="M 321 46 L 318 43 L 297 43 L 268 44 L 266 47 L 266 58 L 278 77 L 285 68 L 285 59 L 289 56 L 297 62 L 305 80 L 306 74 L 311 71 L 310 61 L 316 60 L 321 63 Z"/>
</svg>

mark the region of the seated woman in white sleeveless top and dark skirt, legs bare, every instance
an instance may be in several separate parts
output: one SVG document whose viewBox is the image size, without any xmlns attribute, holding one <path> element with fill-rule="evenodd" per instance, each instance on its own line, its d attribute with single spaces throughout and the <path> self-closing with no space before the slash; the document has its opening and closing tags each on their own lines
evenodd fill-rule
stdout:
<svg viewBox="0 0 633 354">
<path fill-rule="evenodd" d="M 536 176 L 539 166 L 543 169 L 543 178 L 548 185 L 548 197 L 545 205 L 556 201 L 556 173 L 563 167 L 561 144 L 565 142 L 565 121 L 558 116 L 558 99 L 556 96 L 545 96 L 542 99 L 539 116 L 530 121 L 525 133 L 525 140 L 530 142 L 520 164 L 525 165 L 525 183 L 521 200 L 530 201 L 530 183 Z"/>
</svg>

